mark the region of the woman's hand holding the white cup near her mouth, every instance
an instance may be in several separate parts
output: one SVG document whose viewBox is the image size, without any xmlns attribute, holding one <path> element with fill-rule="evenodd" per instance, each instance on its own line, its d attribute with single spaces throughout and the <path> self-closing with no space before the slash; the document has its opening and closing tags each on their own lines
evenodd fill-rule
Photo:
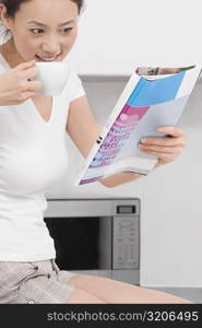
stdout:
<svg viewBox="0 0 202 328">
<path fill-rule="evenodd" d="M 35 61 L 23 62 L 0 74 L 0 106 L 19 105 L 37 94 L 41 82 L 32 79 L 37 74 Z"/>
</svg>

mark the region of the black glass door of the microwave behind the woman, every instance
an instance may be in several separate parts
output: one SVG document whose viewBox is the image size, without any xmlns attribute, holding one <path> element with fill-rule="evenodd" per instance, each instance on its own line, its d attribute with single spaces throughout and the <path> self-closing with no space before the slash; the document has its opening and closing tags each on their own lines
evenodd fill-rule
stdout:
<svg viewBox="0 0 202 328">
<path fill-rule="evenodd" d="M 111 270 L 112 218 L 46 218 L 61 270 Z"/>
</svg>

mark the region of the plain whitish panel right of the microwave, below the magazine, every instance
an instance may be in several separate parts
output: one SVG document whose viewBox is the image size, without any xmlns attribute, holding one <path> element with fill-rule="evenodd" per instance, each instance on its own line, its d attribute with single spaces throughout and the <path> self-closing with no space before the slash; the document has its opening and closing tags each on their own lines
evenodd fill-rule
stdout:
<svg viewBox="0 0 202 328">
<path fill-rule="evenodd" d="M 180 126 L 187 148 L 144 180 L 141 284 L 202 286 L 202 81 Z"/>
</svg>

